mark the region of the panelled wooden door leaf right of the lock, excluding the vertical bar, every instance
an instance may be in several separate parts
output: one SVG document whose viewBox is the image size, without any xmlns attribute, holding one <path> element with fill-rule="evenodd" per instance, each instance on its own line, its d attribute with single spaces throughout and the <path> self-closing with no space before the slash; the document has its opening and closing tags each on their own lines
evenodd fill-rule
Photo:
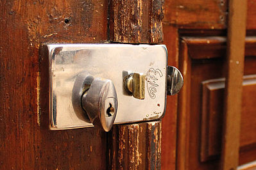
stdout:
<svg viewBox="0 0 256 170">
<path fill-rule="evenodd" d="M 256 168 L 255 5 L 248 1 L 239 169 Z M 162 120 L 163 169 L 221 169 L 229 12 L 225 0 L 165 1 L 164 43 L 184 86 Z"/>
</svg>

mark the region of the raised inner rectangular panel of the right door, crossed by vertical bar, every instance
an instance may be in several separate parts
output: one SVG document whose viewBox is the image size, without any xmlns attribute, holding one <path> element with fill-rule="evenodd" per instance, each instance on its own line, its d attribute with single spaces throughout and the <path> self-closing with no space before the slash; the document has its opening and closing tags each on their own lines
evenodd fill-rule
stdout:
<svg viewBox="0 0 256 170">
<path fill-rule="evenodd" d="M 201 153 L 202 162 L 216 158 L 221 152 L 225 79 L 202 82 Z M 243 77 L 240 148 L 256 145 L 256 75 Z"/>
</svg>

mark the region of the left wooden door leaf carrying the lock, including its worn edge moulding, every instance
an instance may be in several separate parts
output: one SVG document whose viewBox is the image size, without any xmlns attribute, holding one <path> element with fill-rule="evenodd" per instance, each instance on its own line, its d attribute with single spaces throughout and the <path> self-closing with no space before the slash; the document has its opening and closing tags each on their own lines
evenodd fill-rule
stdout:
<svg viewBox="0 0 256 170">
<path fill-rule="evenodd" d="M 0 169 L 160 169 L 161 121 L 49 130 L 42 43 L 161 43 L 161 0 L 0 1 Z"/>
</svg>

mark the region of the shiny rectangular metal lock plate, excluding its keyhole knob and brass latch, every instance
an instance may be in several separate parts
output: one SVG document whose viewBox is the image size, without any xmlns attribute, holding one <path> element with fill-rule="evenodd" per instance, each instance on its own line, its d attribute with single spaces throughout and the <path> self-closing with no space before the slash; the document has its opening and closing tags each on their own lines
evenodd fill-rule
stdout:
<svg viewBox="0 0 256 170">
<path fill-rule="evenodd" d="M 110 79 L 117 93 L 118 109 L 114 124 L 157 120 L 166 109 L 165 45 L 126 44 L 49 44 L 50 128 L 92 127 L 77 116 L 72 91 L 78 74 Z M 134 98 L 124 89 L 124 77 L 143 73 L 144 100 Z"/>
</svg>

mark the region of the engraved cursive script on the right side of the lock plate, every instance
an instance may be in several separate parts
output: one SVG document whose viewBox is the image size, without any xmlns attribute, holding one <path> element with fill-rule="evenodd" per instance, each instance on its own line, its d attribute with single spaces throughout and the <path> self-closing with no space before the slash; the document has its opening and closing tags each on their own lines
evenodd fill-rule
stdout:
<svg viewBox="0 0 256 170">
<path fill-rule="evenodd" d="M 157 81 L 160 77 L 162 77 L 163 74 L 161 70 L 149 68 L 148 72 L 146 73 L 146 84 L 148 89 L 149 97 L 154 99 L 156 97 L 155 93 L 157 93 Z"/>
</svg>

